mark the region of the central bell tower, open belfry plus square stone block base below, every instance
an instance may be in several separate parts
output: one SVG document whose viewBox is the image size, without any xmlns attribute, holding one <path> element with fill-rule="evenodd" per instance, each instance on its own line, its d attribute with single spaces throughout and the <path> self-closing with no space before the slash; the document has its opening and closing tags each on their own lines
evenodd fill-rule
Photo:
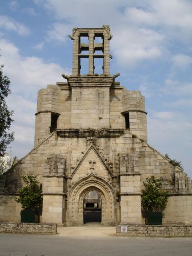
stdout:
<svg viewBox="0 0 192 256">
<path fill-rule="evenodd" d="M 110 75 L 110 27 L 74 28 L 73 71 L 63 74 L 71 91 L 71 129 L 110 129 L 110 89 L 118 75 Z M 83 61 L 87 61 L 87 70 Z M 98 61 L 101 72 L 95 71 Z"/>
</svg>

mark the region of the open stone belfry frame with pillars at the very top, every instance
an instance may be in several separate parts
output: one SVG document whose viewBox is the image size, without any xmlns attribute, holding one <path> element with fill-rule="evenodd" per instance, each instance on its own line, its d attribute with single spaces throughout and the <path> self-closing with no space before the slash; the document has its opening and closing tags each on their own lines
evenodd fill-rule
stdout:
<svg viewBox="0 0 192 256">
<path fill-rule="evenodd" d="M 109 40 L 112 38 L 110 27 L 103 25 L 102 28 L 93 29 L 73 29 L 73 35 L 69 35 L 73 40 L 73 72 L 72 75 L 81 75 L 82 60 L 89 59 L 89 75 L 94 75 L 95 60 L 101 59 L 103 62 L 103 75 L 110 75 L 109 62 Z M 86 42 L 85 38 L 87 39 Z M 83 40 L 84 39 L 84 40 Z M 97 39 L 100 39 L 98 42 Z"/>
</svg>

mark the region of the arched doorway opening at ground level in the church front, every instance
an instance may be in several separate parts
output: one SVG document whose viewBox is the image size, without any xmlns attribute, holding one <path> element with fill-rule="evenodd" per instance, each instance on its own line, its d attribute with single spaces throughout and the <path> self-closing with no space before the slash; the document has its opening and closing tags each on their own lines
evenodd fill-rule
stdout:
<svg viewBox="0 0 192 256">
<path fill-rule="evenodd" d="M 85 194 L 83 200 L 83 223 L 101 222 L 102 200 L 96 190 L 91 190 Z"/>
</svg>

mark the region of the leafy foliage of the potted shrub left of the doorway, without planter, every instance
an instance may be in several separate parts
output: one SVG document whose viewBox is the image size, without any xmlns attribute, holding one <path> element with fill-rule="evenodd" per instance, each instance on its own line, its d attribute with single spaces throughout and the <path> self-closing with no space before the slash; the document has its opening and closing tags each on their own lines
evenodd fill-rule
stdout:
<svg viewBox="0 0 192 256">
<path fill-rule="evenodd" d="M 37 175 L 28 174 L 21 176 L 26 186 L 18 190 L 15 201 L 21 203 L 23 210 L 39 210 L 42 207 L 42 194 L 37 181 Z"/>
</svg>

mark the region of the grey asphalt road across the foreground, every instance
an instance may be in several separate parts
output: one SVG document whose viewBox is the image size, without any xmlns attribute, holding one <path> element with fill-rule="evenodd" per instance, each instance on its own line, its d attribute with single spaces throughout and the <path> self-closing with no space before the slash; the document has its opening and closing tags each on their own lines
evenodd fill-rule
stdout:
<svg viewBox="0 0 192 256">
<path fill-rule="evenodd" d="M 191 256 L 192 238 L 0 234 L 1 256 Z"/>
</svg>

